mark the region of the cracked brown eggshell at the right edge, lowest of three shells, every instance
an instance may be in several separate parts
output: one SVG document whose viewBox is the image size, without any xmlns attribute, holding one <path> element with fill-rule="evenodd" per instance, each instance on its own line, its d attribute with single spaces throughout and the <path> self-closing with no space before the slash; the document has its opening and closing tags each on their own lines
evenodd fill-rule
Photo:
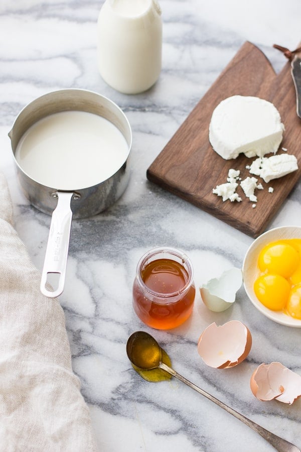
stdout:
<svg viewBox="0 0 301 452">
<path fill-rule="evenodd" d="M 301 397 L 301 376 L 281 363 L 262 363 L 253 372 L 250 387 L 258 400 L 276 399 L 291 405 Z"/>
</svg>

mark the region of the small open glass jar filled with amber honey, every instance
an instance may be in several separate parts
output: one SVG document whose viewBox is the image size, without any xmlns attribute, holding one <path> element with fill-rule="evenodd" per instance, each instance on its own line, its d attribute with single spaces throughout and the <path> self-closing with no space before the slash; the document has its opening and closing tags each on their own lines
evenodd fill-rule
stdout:
<svg viewBox="0 0 301 452">
<path fill-rule="evenodd" d="M 171 329 L 184 323 L 195 299 L 193 267 L 174 248 L 148 251 L 137 265 L 133 284 L 133 308 L 148 326 Z"/>
</svg>

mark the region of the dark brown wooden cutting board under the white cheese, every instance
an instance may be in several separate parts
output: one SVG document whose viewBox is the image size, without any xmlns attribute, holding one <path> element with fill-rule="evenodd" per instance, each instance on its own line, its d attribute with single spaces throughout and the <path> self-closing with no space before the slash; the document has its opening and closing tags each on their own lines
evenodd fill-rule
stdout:
<svg viewBox="0 0 301 452">
<path fill-rule="evenodd" d="M 239 169 L 242 179 L 252 176 L 245 167 L 254 159 L 241 155 L 235 160 L 224 160 L 209 143 L 208 128 L 214 108 L 235 94 L 261 97 L 276 106 L 285 127 L 278 153 L 283 152 L 283 147 L 298 159 L 298 171 L 268 184 L 258 178 L 264 190 L 255 192 L 256 208 L 252 208 L 253 203 L 240 186 L 236 191 L 242 202 L 223 202 L 212 193 L 216 185 L 227 181 L 230 168 Z M 300 175 L 301 121 L 296 115 L 290 62 L 276 75 L 264 54 L 249 42 L 240 48 L 146 172 L 150 181 L 254 238 L 266 229 Z M 274 188 L 273 193 L 268 192 L 269 186 Z"/>
</svg>

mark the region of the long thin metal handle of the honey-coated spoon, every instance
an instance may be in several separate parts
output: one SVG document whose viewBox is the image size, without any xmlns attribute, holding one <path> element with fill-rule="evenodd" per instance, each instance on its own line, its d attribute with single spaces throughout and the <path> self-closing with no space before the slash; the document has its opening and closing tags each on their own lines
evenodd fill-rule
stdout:
<svg viewBox="0 0 301 452">
<path fill-rule="evenodd" d="M 260 425 L 256 424 L 255 422 L 251 421 L 247 417 L 243 416 L 242 414 L 235 411 L 233 408 L 230 408 L 225 403 L 221 402 L 220 400 L 216 399 L 214 396 L 209 394 L 208 392 L 204 391 L 203 389 L 199 388 L 195 384 L 193 384 L 191 381 L 187 380 L 182 375 L 178 374 L 178 372 L 174 371 L 171 367 L 167 366 L 164 363 L 160 363 L 159 367 L 166 372 L 168 372 L 170 375 L 173 375 L 178 380 L 182 381 L 186 385 L 190 386 L 192 389 L 197 391 L 199 394 L 202 394 L 207 399 L 211 400 L 212 402 L 216 403 L 216 405 L 220 406 L 224 410 L 228 411 L 228 413 L 232 414 L 234 417 L 237 417 L 237 419 L 241 420 L 244 424 L 248 425 L 250 428 L 255 430 L 257 433 L 259 433 L 264 439 L 266 439 L 273 447 L 275 447 L 278 452 L 301 452 L 298 447 L 291 444 L 291 442 L 286 441 L 283 438 L 280 438 L 277 435 L 274 435 L 274 433 L 271 433 L 270 431 L 266 430 L 265 428 L 261 427 Z"/>
</svg>

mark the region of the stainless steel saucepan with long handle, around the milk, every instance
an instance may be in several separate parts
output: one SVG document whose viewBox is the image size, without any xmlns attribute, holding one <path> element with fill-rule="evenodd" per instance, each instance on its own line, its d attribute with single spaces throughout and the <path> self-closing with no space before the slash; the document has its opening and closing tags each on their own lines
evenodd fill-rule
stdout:
<svg viewBox="0 0 301 452">
<path fill-rule="evenodd" d="M 47 186 L 30 177 L 18 163 L 15 154 L 20 140 L 31 126 L 50 115 L 70 110 L 87 111 L 108 120 L 125 138 L 128 153 L 122 164 L 118 164 L 114 173 L 105 180 L 84 188 L 65 190 L 64 187 L 56 186 L 56 182 Z M 39 210 L 52 214 L 41 292 L 48 297 L 57 297 L 64 290 L 72 216 L 84 218 L 100 213 L 112 205 L 126 188 L 130 173 L 131 128 L 123 111 L 108 98 L 88 90 L 64 89 L 50 92 L 29 103 L 16 118 L 9 137 L 18 179 L 25 195 Z M 99 152 L 105 150 L 99 149 Z M 57 164 L 60 165 L 60 161 Z M 93 165 L 93 161 L 89 164 Z M 57 276 L 57 286 L 53 289 L 47 279 L 52 274 Z"/>
</svg>

